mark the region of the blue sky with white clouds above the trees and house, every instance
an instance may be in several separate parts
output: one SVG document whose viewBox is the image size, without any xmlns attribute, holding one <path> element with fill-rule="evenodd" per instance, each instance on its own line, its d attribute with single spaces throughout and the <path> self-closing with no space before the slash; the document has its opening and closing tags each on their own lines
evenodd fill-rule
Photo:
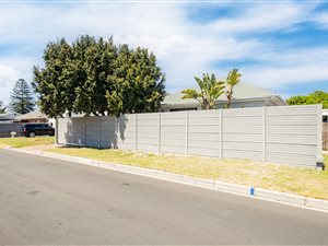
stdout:
<svg viewBox="0 0 328 246">
<path fill-rule="evenodd" d="M 283 98 L 328 91 L 327 1 L 2 1 L 0 16 L 4 104 L 48 42 L 84 34 L 152 50 L 171 93 L 233 68 Z"/>
</svg>

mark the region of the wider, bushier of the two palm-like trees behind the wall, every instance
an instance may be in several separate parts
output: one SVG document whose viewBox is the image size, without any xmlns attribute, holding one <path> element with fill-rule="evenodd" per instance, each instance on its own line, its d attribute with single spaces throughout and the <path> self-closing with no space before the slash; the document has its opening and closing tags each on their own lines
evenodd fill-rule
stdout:
<svg viewBox="0 0 328 246">
<path fill-rule="evenodd" d="M 184 90 L 181 91 L 184 94 L 183 99 L 197 99 L 202 109 L 214 108 L 215 101 L 224 93 L 224 82 L 216 80 L 213 73 L 211 75 L 203 73 L 202 80 L 197 77 L 195 77 L 195 80 L 198 83 L 200 92 L 194 89 Z"/>
</svg>

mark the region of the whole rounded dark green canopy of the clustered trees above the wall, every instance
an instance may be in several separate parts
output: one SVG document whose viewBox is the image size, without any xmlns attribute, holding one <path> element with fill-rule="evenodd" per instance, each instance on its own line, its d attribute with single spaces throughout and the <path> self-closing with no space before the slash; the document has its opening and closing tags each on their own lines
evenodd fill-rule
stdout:
<svg viewBox="0 0 328 246">
<path fill-rule="evenodd" d="M 164 99 L 165 75 L 147 48 L 85 35 L 72 44 L 50 42 L 44 61 L 44 68 L 34 67 L 33 86 L 50 117 L 154 112 Z"/>
</svg>

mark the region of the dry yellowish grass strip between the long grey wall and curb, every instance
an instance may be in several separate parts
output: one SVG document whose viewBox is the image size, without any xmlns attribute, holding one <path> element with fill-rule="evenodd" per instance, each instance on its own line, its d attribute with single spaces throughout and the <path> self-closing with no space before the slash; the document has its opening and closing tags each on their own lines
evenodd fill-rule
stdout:
<svg viewBox="0 0 328 246">
<path fill-rule="evenodd" d="M 155 155 L 89 148 L 56 148 L 47 151 L 328 200 L 327 171 L 255 163 L 247 160 Z M 325 156 L 325 160 L 328 166 L 328 156 Z"/>
</svg>

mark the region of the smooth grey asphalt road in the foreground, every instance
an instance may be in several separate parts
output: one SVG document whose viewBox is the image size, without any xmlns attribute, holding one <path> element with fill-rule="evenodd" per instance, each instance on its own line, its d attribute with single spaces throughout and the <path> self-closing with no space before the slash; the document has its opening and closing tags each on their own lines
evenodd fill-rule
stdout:
<svg viewBox="0 0 328 246">
<path fill-rule="evenodd" d="M 1 244 L 328 245 L 328 214 L 0 150 Z"/>
</svg>

